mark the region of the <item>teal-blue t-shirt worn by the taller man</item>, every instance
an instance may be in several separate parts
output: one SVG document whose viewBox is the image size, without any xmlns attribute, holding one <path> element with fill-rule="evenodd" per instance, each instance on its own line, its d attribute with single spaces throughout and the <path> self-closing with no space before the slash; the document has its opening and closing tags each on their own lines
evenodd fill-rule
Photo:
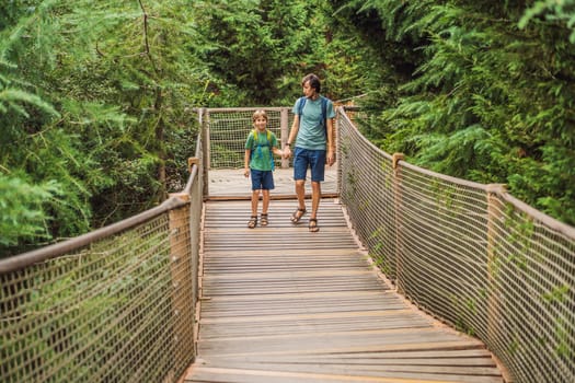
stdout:
<svg viewBox="0 0 575 383">
<path fill-rule="evenodd" d="M 294 114 L 299 112 L 299 103 L 301 98 L 296 101 Z M 331 100 L 327 100 L 326 105 L 326 117 L 334 118 L 335 112 L 333 109 L 333 103 Z M 321 111 L 321 97 L 317 100 L 307 98 L 306 105 L 303 105 L 302 115 L 299 116 L 299 130 L 298 137 L 296 138 L 296 147 L 303 148 L 308 150 L 325 150 L 326 138 L 325 131 L 327 129 L 326 125 L 322 125 L 322 111 Z M 324 124 L 326 124 L 324 121 Z"/>
</svg>

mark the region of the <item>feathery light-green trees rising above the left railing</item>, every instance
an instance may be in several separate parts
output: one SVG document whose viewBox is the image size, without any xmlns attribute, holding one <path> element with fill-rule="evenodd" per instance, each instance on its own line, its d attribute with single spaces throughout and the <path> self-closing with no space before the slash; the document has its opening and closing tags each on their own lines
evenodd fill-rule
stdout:
<svg viewBox="0 0 575 383">
<path fill-rule="evenodd" d="M 206 67 L 189 55 L 187 1 L 2 7 L 0 164 L 23 183 L 61 188 L 44 210 L 47 237 L 140 212 L 182 184 L 191 153 L 165 139 L 193 147 L 189 111 L 210 97 Z"/>
</svg>

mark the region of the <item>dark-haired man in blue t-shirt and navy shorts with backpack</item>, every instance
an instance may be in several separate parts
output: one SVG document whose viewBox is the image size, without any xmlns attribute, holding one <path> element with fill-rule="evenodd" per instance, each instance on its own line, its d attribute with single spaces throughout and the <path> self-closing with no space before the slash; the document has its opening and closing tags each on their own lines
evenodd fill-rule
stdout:
<svg viewBox="0 0 575 383">
<path fill-rule="evenodd" d="M 284 150 L 285 156 L 291 155 L 294 146 L 294 179 L 298 209 L 291 214 L 291 222 L 298 223 L 307 212 L 306 209 L 306 174 L 311 170 L 311 217 L 309 231 L 320 230 L 318 225 L 318 208 L 321 197 L 321 182 L 325 173 L 325 163 L 330 166 L 335 162 L 333 142 L 333 103 L 320 94 L 320 79 L 311 73 L 301 81 L 303 97 L 294 105 L 294 124 Z"/>
</svg>

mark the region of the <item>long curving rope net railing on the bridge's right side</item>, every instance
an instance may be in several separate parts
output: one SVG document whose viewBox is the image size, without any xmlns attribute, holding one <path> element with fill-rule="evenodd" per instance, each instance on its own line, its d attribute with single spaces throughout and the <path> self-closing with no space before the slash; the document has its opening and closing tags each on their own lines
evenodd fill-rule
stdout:
<svg viewBox="0 0 575 383">
<path fill-rule="evenodd" d="M 483 340 L 515 382 L 575 381 L 575 229 L 508 195 L 410 165 L 341 108 L 341 198 L 400 292 Z"/>
</svg>

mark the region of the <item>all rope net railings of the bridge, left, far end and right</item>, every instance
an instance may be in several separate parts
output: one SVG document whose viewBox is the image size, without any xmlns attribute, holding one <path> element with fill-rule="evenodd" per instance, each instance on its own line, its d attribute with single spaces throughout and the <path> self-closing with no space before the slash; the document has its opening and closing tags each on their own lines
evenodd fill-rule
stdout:
<svg viewBox="0 0 575 383">
<path fill-rule="evenodd" d="M 161 206 L 0 260 L 0 381 L 175 382 L 184 374 L 196 356 L 209 175 L 243 166 L 253 111 L 199 111 L 188 183 Z M 266 111 L 285 143 L 289 108 Z M 575 381 L 575 229 L 502 185 L 382 152 L 343 108 L 336 131 L 340 198 L 399 291 L 482 340 L 513 381 Z"/>
</svg>

